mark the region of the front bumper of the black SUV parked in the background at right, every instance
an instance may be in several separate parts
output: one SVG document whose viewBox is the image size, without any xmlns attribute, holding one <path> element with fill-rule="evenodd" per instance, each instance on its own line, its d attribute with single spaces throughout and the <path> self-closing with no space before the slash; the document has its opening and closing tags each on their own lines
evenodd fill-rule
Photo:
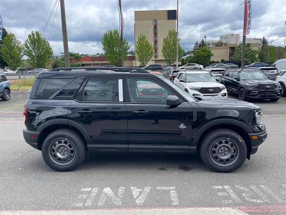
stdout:
<svg viewBox="0 0 286 215">
<path fill-rule="evenodd" d="M 276 99 L 282 96 L 281 88 L 276 90 L 257 90 L 256 88 L 247 89 L 247 97 L 251 99 Z"/>
</svg>

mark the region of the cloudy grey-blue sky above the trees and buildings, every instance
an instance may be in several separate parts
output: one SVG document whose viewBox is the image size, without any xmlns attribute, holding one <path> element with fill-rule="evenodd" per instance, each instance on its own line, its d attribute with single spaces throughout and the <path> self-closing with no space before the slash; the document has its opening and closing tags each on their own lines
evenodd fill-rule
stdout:
<svg viewBox="0 0 286 215">
<path fill-rule="evenodd" d="M 24 42 L 32 30 L 43 32 L 56 0 L 0 0 L 3 27 Z M 184 50 L 204 35 L 242 34 L 243 0 L 179 0 L 179 37 Z M 65 0 L 69 50 L 85 54 L 102 52 L 100 39 L 107 29 L 119 28 L 117 0 Z M 134 50 L 134 11 L 172 10 L 176 0 L 122 0 L 124 38 Z M 56 6 L 57 8 L 57 6 Z M 60 7 L 54 10 L 45 29 L 55 55 L 63 51 Z M 286 37 L 285 0 L 252 0 L 252 26 L 247 37 L 265 35 L 272 44 L 284 45 Z"/>
</svg>

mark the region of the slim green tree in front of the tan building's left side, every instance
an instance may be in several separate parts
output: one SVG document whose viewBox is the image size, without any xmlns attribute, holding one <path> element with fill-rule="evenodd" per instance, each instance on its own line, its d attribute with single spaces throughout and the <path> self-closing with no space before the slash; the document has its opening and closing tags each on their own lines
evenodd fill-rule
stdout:
<svg viewBox="0 0 286 215">
<path fill-rule="evenodd" d="M 140 66 L 146 66 L 153 55 L 154 50 L 151 43 L 147 40 L 146 35 L 140 33 L 136 42 L 136 59 L 138 59 Z"/>
</svg>

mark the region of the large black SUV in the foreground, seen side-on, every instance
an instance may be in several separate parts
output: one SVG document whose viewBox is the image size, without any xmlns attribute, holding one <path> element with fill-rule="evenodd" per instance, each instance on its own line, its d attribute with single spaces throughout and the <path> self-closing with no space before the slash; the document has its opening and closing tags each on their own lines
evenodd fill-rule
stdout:
<svg viewBox="0 0 286 215">
<path fill-rule="evenodd" d="M 142 68 L 73 69 L 39 73 L 24 105 L 24 139 L 52 169 L 72 170 L 87 153 L 198 152 L 211 169 L 230 172 L 267 137 L 252 103 L 198 100 Z"/>
</svg>

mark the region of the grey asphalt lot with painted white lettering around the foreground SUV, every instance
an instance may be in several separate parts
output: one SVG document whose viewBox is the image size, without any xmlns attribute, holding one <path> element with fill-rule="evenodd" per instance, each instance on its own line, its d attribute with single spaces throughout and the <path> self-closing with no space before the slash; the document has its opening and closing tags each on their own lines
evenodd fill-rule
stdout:
<svg viewBox="0 0 286 215">
<path fill-rule="evenodd" d="M 263 108 L 268 138 L 232 173 L 212 172 L 198 157 L 138 154 L 91 155 L 56 172 L 23 139 L 27 97 L 0 101 L 0 214 L 286 213 L 285 97 L 250 101 Z"/>
</svg>

